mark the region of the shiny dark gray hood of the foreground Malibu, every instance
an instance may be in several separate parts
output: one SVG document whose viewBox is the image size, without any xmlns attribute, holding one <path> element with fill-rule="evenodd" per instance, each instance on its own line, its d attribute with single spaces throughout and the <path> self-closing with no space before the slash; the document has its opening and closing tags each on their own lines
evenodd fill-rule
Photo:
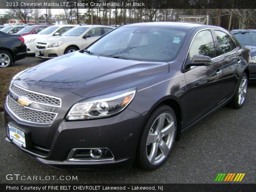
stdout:
<svg viewBox="0 0 256 192">
<path fill-rule="evenodd" d="M 18 78 L 28 84 L 92 97 L 136 87 L 168 71 L 166 62 L 142 62 L 72 52 L 34 66 Z"/>
</svg>

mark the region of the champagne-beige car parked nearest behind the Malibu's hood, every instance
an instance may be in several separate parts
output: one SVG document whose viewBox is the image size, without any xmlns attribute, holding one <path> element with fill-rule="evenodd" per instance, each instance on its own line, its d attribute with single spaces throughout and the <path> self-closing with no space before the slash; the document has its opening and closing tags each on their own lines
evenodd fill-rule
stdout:
<svg viewBox="0 0 256 192">
<path fill-rule="evenodd" d="M 113 29 L 114 27 L 102 25 L 77 26 L 60 37 L 38 41 L 36 57 L 50 59 L 80 50 Z"/>
</svg>

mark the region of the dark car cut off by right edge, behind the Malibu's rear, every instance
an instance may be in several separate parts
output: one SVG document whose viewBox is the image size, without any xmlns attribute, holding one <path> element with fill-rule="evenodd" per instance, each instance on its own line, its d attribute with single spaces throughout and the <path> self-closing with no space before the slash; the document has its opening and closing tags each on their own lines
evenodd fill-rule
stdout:
<svg viewBox="0 0 256 192">
<path fill-rule="evenodd" d="M 230 31 L 237 40 L 250 49 L 250 81 L 256 81 L 256 30 L 254 29 L 237 29 Z"/>
</svg>

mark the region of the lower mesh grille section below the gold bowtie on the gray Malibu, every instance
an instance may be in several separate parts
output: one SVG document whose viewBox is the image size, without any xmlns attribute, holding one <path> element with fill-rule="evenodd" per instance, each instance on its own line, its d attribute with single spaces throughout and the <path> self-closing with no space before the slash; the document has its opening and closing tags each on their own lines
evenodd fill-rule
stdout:
<svg viewBox="0 0 256 192">
<path fill-rule="evenodd" d="M 52 112 L 45 112 L 42 110 L 35 110 L 32 108 L 22 108 L 20 104 L 14 101 L 12 98 L 7 96 L 7 104 L 10 110 L 18 116 L 21 120 L 39 124 L 52 124 L 55 117 L 57 116 L 56 113 Z"/>
</svg>

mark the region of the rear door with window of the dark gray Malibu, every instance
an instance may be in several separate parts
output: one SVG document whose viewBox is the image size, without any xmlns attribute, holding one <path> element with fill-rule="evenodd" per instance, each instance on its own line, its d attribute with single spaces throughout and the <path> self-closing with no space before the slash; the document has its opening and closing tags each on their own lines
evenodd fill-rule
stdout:
<svg viewBox="0 0 256 192">
<path fill-rule="evenodd" d="M 232 38 L 224 31 L 214 30 L 218 42 L 217 56 L 222 60 L 223 85 L 220 101 L 224 102 L 234 93 L 239 79 L 239 69 L 242 69 L 242 51 Z"/>
</svg>

